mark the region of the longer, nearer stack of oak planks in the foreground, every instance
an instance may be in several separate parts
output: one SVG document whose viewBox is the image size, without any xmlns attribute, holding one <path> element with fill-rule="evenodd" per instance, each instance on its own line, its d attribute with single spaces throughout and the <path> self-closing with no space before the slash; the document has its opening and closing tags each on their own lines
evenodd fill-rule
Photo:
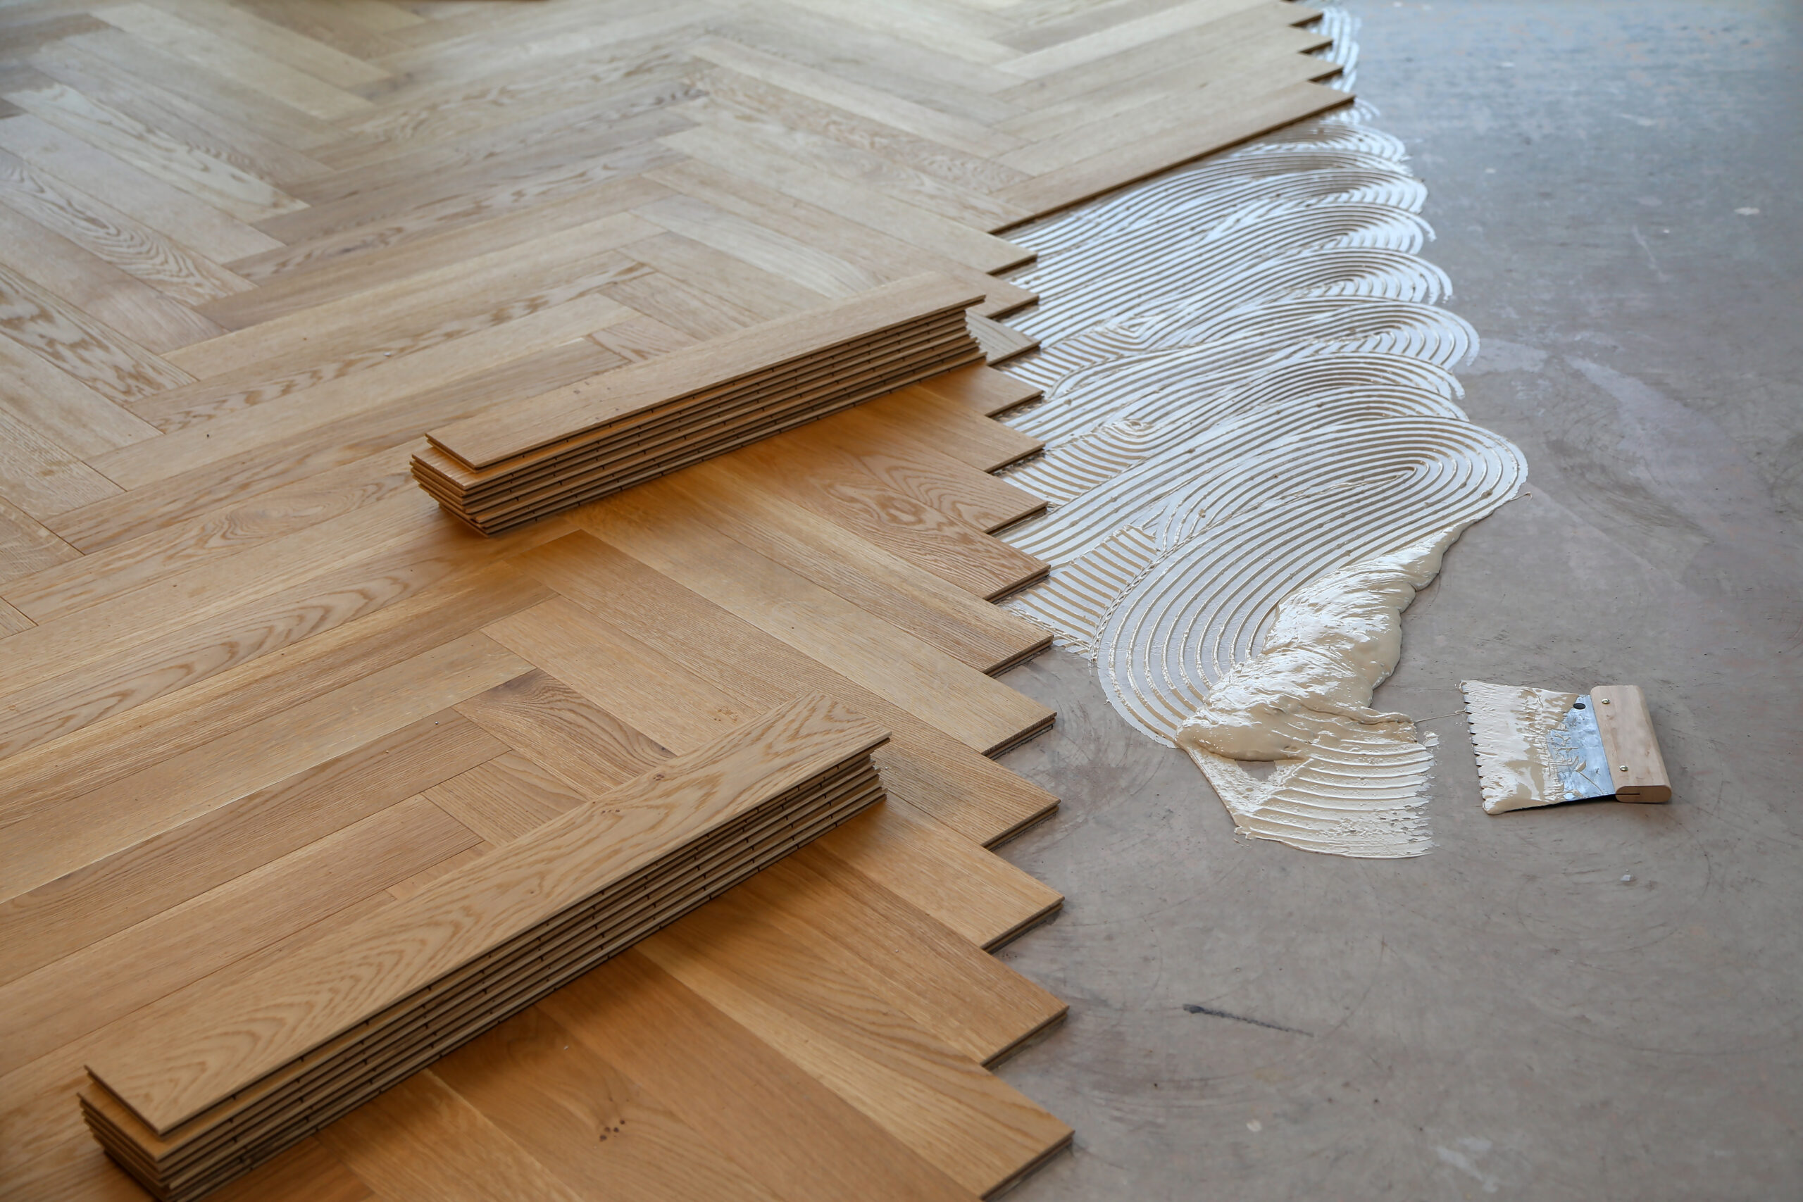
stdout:
<svg viewBox="0 0 1803 1202">
<path fill-rule="evenodd" d="M 83 1115 L 198 1198 L 882 800 L 876 723 L 808 694 L 90 1061 Z"/>
</svg>

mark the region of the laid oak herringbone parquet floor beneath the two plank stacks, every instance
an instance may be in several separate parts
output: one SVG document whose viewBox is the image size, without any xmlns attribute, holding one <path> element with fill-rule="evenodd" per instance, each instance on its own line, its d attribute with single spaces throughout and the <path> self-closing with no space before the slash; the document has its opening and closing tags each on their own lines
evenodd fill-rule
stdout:
<svg viewBox="0 0 1803 1202">
<path fill-rule="evenodd" d="M 993 1193 L 1062 1006 L 966 373 L 503 539 L 422 431 L 1345 103 L 1280 0 L 0 4 L 0 1193 L 141 1197 L 83 1058 L 806 690 L 891 802 L 218 1197 Z M 979 323 L 981 324 L 981 323 Z M 984 326 L 997 355 L 1020 348 Z M 609 764 L 613 764 L 609 768 Z M 609 775 L 613 773 L 613 775 Z"/>
</svg>

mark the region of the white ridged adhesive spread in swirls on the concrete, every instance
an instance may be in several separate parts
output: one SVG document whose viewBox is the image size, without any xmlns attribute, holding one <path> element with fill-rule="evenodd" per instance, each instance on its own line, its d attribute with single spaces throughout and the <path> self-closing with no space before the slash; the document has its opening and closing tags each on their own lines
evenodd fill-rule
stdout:
<svg viewBox="0 0 1803 1202">
<path fill-rule="evenodd" d="M 1354 23 L 1322 14 L 1345 87 Z M 1046 400 L 1002 537 L 1053 569 L 1010 607 L 1096 665 L 1120 714 L 1235 825 L 1307 851 L 1432 847 L 1432 751 L 1370 708 L 1401 611 L 1525 461 L 1459 409 L 1477 333 L 1403 146 L 1356 105 L 1010 231 L 1039 260 L 1010 366 Z M 1260 775 L 1249 762 L 1266 762 Z"/>
</svg>

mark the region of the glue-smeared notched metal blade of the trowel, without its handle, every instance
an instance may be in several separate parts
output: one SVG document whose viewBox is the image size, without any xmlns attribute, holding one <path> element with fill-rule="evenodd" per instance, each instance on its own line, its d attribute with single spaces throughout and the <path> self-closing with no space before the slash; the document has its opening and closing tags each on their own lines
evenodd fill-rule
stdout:
<svg viewBox="0 0 1803 1202">
<path fill-rule="evenodd" d="M 1484 681 L 1460 688 L 1484 813 L 1615 795 L 1590 694 Z"/>
</svg>

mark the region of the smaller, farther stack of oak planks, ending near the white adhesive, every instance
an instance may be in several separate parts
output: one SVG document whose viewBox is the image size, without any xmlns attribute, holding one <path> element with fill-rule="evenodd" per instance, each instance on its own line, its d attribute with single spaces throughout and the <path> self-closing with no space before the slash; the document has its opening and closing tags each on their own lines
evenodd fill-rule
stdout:
<svg viewBox="0 0 1803 1202">
<path fill-rule="evenodd" d="M 505 533 L 981 362 L 965 319 L 979 301 L 929 272 L 777 317 L 431 431 L 413 478 Z"/>
</svg>

